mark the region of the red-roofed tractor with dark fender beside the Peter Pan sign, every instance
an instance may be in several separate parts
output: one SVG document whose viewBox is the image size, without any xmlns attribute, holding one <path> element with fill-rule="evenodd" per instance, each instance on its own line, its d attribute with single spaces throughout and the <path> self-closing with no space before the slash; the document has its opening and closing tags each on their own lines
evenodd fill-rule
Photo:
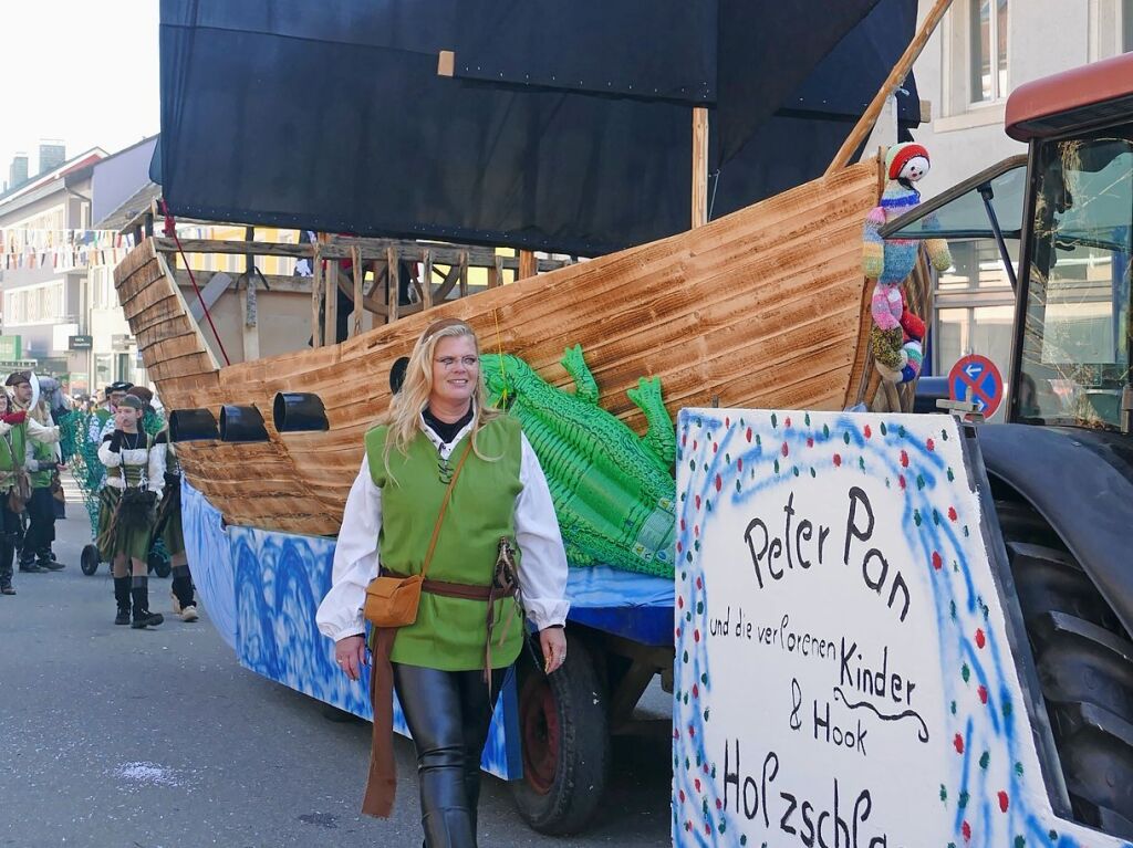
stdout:
<svg viewBox="0 0 1133 848">
<path fill-rule="evenodd" d="M 1021 86 L 1006 131 L 1025 156 L 881 234 L 999 245 L 1016 294 L 1008 406 L 977 432 L 1025 632 L 1016 661 L 1045 702 L 1055 811 L 1133 839 L 1133 54 Z"/>
</svg>

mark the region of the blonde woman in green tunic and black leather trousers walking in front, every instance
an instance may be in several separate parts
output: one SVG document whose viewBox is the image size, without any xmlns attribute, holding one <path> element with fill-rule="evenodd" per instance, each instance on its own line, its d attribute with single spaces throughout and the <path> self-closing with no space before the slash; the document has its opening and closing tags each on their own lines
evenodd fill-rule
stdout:
<svg viewBox="0 0 1133 848">
<path fill-rule="evenodd" d="M 370 815 L 393 810 L 392 685 L 417 750 L 426 848 L 476 846 L 484 742 L 523 643 L 521 620 L 509 615 L 512 596 L 492 589 L 502 583 L 499 555 L 511 540 L 522 555 L 519 594 L 551 674 L 566 657 L 569 605 L 546 478 L 519 421 L 486 403 L 471 327 L 436 322 L 414 346 L 383 423 L 366 434 L 332 586 L 316 616 L 339 666 L 357 680 L 366 659 L 363 603 L 378 560 L 383 575 L 427 574 L 416 619 L 374 633 L 374 738 L 363 803 Z"/>
</svg>

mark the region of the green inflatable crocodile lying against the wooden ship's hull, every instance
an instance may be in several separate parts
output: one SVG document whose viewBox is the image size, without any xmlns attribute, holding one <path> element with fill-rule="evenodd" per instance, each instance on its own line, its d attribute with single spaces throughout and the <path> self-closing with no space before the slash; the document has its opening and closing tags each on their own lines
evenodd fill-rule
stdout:
<svg viewBox="0 0 1133 848">
<path fill-rule="evenodd" d="M 522 422 L 539 457 L 571 564 L 673 576 L 676 442 L 661 380 L 642 378 L 629 392 L 649 426 L 638 437 L 598 405 L 598 384 L 578 345 L 561 360 L 573 394 L 511 354 L 480 361 L 493 404 Z"/>
</svg>

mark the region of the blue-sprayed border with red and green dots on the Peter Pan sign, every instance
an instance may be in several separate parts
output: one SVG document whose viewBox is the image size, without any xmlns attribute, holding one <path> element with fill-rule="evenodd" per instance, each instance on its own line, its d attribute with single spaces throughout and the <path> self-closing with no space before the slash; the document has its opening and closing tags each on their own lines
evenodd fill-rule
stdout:
<svg viewBox="0 0 1133 848">
<path fill-rule="evenodd" d="M 702 537 L 706 526 L 712 523 L 712 500 L 727 497 L 733 504 L 742 504 L 759 491 L 781 486 L 790 476 L 835 473 L 841 465 L 836 465 L 833 456 L 828 455 L 834 448 L 846 454 L 845 462 L 850 462 L 851 456 L 861 462 L 860 470 L 868 470 L 867 473 L 875 479 L 905 478 L 909 497 L 902 528 L 910 550 L 920 551 L 923 563 L 931 563 L 934 554 L 942 558 L 940 566 L 930 572 L 930 589 L 942 634 L 942 668 L 955 670 L 944 675 L 945 708 L 949 717 L 947 727 L 954 737 L 935 739 L 934 744 L 946 744 L 956 750 L 952 774 L 945 778 L 948 786 L 942 783 L 942 791 L 948 790 L 948 803 L 955 804 L 954 832 L 952 839 L 940 843 L 942 848 L 944 845 L 962 848 L 1133 848 L 1133 843 L 1058 820 L 1046 797 L 1033 752 L 1023 748 L 1024 744 L 1031 746 L 1032 743 L 1026 733 L 1025 705 L 1013 701 L 1013 686 L 1008 683 L 1014 680 L 1016 674 L 1014 659 L 1006 633 L 997 624 L 989 623 L 987 605 L 998 606 L 998 599 L 989 597 L 985 601 L 981 597 L 973 577 L 977 564 L 968 562 L 961 539 L 968 532 L 980 533 L 980 516 L 971 514 L 966 507 L 966 514 L 962 514 L 959 522 L 942 516 L 947 508 L 949 487 L 955 487 L 955 497 L 960 499 L 960 490 L 963 489 L 960 483 L 965 479 L 966 471 L 955 469 L 955 483 L 945 479 L 949 469 L 939 453 L 919 439 L 906 438 L 900 425 L 867 436 L 866 426 L 872 423 L 877 427 L 876 419 L 863 421 L 852 414 L 842 414 L 829 422 L 828 431 L 824 432 L 818 426 L 811 427 L 809 421 L 802 427 L 798 422 L 791 427 L 789 423 L 784 426 L 784 421 L 776 423 L 770 417 L 768 422 L 769 416 L 750 412 L 750 420 L 725 427 L 723 418 L 707 411 L 683 410 L 678 426 L 678 465 L 691 464 L 691 468 L 687 474 L 682 471 L 689 482 L 681 496 L 684 500 L 679 508 L 676 536 L 676 594 L 682 603 L 675 614 L 679 635 L 678 688 L 673 712 L 674 845 L 681 848 L 717 848 L 759 845 L 760 841 L 747 837 L 741 841 L 742 823 L 730 811 L 722 810 L 716 781 L 717 764 L 708 762 L 700 751 L 699 740 L 704 738 L 706 722 L 710 720 L 713 680 L 707 640 L 695 640 L 689 635 L 693 628 L 699 628 L 700 633 L 708 631 L 707 598 L 710 585 L 700 559 L 697 530 Z M 748 426 L 753 430 L 753 439 L 746 438 L 744 428 Z M 959 436 L 954 427 L 945 426 L 952 438 Z M 937 432 L 943 439 L 949 438 L 946 432 Z M 710 434 L 717 434 L 716 449 L 712 453 L 707 449 L 695 451 L 688 444 L 698 438 L 707 447 L 705 434 L 709 435 L 708 443 L 712 442 Z M 821 448 L 824 443 L 827 453 L 817 452 L 821 459 L 800 459 L 804 451 L 816 446 Z M 786 445 L 785 454 L 781 445 Z M 909 454 L 908 468 L 901 465 L 898 449 Z M 738 457 L 742 459 L 742 466 L 735 462 Z M 964 494 L 968 495 L 966 491 Z M 942 497 L 945 500 L 940 500 Z M 708 508 L 700 504 L 708 505 Z M 986 591 L 990 594 L 996 589 L 989 583 Z M 986 640 L 983 646 L 973 644 L 977 631 Z M 697 687 L 695 692 L 693 685 Z M 1023 733 L 1016 728 L 1020 717 Z M 989 755 L 994 755 L 993 768 L 988 768 Z M 1024 760 L 1033 764 L 1033 774 L 1024 777 L 1021 765 Z M 1005 811 L 1000 806 L 999 793 L 1006 793 L 1010 800 Z M 936 842 L 926 842 L 930 843 Z"/>
</svg>

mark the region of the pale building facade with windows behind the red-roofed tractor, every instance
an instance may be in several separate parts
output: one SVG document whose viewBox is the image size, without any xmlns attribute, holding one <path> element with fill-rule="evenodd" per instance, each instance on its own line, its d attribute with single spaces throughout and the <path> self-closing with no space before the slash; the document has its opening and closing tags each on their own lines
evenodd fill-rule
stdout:
<svg viewBox="0 0 1133 848">
<path fill-rule="evenodd" d="M 920 1 L 922 18 L 931 6 Z M 914 66 L 920 96 L 931 103 L 931 120 L 914 132 L 932 157 L 925 196 L 1026 152 L 1004 132 L 1016 87 L 1130 50 L 1133 0 L 954 0 Z M 952 249 L 953 267 L 936 291 L 932 372 L 981 353 L 1006 377 L 1015 298 L 999 251 L 991 241 Z M 1017 264 L 1017 242 L 1008 251 Z"/>
</svg>

